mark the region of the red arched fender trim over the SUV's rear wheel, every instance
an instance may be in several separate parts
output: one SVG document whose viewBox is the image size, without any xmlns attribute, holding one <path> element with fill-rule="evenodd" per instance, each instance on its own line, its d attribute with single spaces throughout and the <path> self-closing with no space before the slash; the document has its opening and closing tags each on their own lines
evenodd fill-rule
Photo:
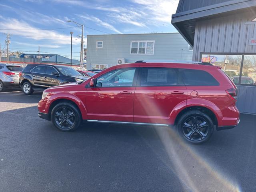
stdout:
<svg viewBox="0 0 256 192">
<path fill-rule="evenodd" d="M 184 102 L 181 102 L 172 110 L 172 112 L 170 113 L 170 116 L 169 116 L 170 124 L 174 124 L 178 114 L 182 110 L 184 110 L 185 108 L 194 107 L 194 106 L 208 108 L 209 110 L 211 110 L 214 113 L 218 122 L 220 122 L 223 118 L 222 112 L 214 103 L 212 103 L 208 100 L 205 100 L 205 99 L 192 98 L 192 99 L 188 99 Z"/>
</svg>

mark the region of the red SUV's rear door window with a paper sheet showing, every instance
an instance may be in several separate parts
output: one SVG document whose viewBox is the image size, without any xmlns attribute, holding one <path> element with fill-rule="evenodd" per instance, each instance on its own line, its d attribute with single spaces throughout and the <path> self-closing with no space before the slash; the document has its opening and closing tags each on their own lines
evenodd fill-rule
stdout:
<svg viewBox="0 0 256 192">
<path fill-rule="evenodd" d="M 177 86 L 178 75 L 174 68 L 143 67 L 140 86 Z"/>
</svg>

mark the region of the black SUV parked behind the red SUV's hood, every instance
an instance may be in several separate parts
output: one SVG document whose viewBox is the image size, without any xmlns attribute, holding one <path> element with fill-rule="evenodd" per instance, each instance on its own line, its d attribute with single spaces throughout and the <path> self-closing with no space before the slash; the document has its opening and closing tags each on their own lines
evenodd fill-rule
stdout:
<svg viewBox="0 0 256 192">
<path fill-rule="evenodd" d="M 33 94 L 34 90 L 69 83 L 82 82 L 88 77 L 82 76 L 74 68 L 61 65 L 28 64 L 20 73 L 19 84 L 24 94 Z"/>
</svg>

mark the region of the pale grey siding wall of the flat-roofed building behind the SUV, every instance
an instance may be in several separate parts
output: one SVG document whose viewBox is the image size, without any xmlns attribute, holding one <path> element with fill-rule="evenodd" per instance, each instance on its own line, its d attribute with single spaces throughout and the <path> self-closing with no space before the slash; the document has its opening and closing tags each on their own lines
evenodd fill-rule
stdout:
<svg viewBox="0 0 256 192">
<path fill-rule="evenodd" d="M 154 42 L 153 54 L 131 54 L 132 42 L 146 41 Z M 97 48 L 97 42 L 103 42 L 103 47 Z M 179 33 L 87 36 L 87 69 L 103 64 L 114 66 L 119 58 L 124 58 L 125 63 L 137 60 L 191 61 L 192 51 L 188 50 L 188 43 Z"/>
</svg>

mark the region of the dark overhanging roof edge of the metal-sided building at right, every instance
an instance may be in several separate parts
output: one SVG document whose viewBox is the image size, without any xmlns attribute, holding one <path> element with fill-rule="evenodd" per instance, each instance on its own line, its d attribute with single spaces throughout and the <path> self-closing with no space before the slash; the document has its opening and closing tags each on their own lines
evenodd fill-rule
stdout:
<svg viewBox="0 0 256 192">
<path fill-rule="evenodd" d="M 248 11 L 252 7 L 256 8 L 255 0 L 180 0 L 176 14 L 172 15 L 172 25 L 194 46 L 196 20 Z"/>
</svg>

